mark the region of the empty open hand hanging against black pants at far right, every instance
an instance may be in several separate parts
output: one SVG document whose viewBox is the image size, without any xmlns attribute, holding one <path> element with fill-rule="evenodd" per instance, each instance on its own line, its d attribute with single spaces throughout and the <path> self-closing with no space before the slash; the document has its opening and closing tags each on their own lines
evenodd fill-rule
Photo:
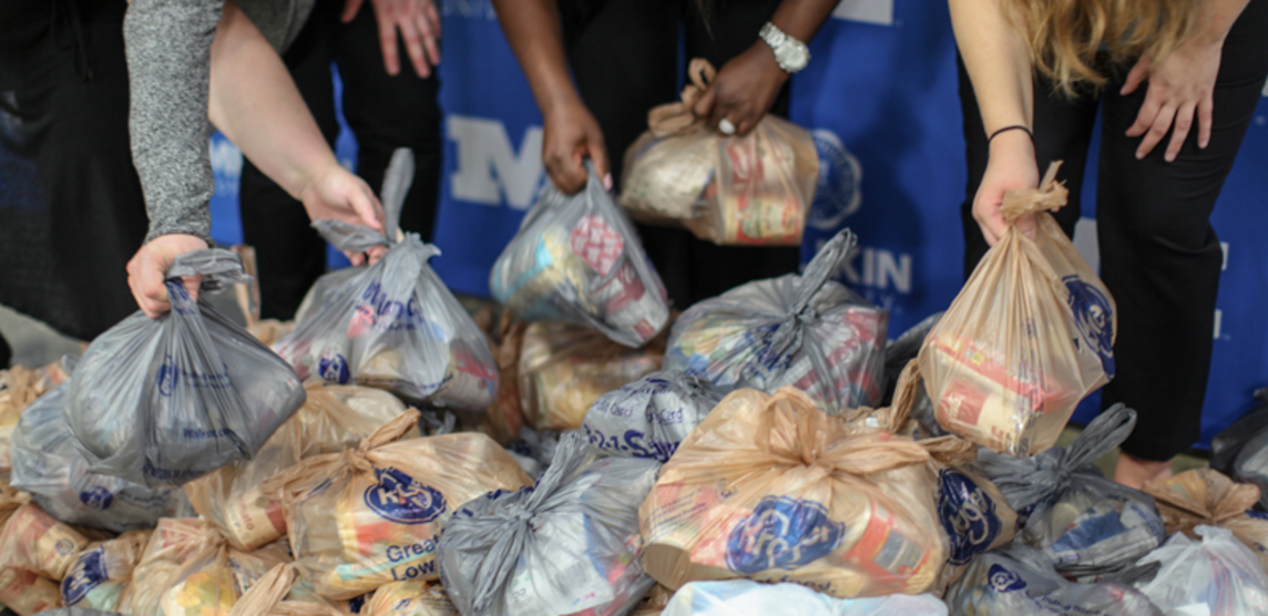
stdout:
<svg viewBox="0 0 1268 616">
<path fill-rule="evenodd" d="M 1167 162 L 1174 161 L 1193 127 L 1194 113 L 1197 146 L 1205 148 L 1211 142 L 1212 94 L 1222 47 L 1222 39 L 1194 37 L 1159 62 L 1153 62 L 1148 55 L 1141 57 L 1127 74 L 1127 82 L 1118 93 L 1125 96 L 1149 79 L 1145 104 L 1140 105 L 1136 122 L 1127 129 L 1127 137 L 1145 136 L 1136 148 L 1136 158 L 1153 151 L 1174 122 L 1175 131 L 1165 155 Z"/>
</svg>

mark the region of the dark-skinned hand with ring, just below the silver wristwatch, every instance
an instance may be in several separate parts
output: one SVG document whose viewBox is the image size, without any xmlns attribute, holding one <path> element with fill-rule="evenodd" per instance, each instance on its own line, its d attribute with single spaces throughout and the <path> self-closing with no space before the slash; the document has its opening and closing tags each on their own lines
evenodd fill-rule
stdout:
<svg viewBox="0 0 1268 616">
<path fill-rule="evenodd" d="M 763 41 L 723 65 L 709 90 L 696 101 L 695 113 L 716 127 L 724 118 L 738 134 L 748 134 L 775 104 L 789 74 L 775 61 Z"/>
</svg>

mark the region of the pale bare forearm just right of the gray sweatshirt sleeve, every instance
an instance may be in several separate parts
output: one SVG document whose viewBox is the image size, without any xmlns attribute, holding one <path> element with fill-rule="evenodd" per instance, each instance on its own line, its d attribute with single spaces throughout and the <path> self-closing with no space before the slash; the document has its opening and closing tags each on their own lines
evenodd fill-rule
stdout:
<svg viewBox="0 0 1268 616">
<path fill-rule="evenodd" d="M 212 122 L 290 196 L 339 164 L 281 57 L 233 3 L 224 4 L 210 66 Z"/>
</svg>

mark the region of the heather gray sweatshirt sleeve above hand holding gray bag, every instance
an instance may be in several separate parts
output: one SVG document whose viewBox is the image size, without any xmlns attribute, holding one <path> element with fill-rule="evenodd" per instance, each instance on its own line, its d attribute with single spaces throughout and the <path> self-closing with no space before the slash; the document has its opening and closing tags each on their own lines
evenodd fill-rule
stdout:
<svg viewBox="0 0 1268 616">
<path fill-rule="evenodd" d="M 210 242 L 216 190 L 207 119 L 212 39 L 224 0 L 132 0 L 123 22 L 132 89 L 132 160 L 150 234 Z"/>
</svg>

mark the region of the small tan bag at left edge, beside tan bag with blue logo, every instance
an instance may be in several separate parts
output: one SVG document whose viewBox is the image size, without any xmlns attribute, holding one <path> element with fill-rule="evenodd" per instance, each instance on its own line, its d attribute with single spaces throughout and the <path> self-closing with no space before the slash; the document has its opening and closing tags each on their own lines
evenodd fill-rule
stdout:
<svg viewBox="0 0 1268 616">
<path fill-rule="evenodd" d="M 0 532 L 0 563 L 52 579 L 62 579 L 89 540 L 75 529 L 53 520 L 36 503 L 27 503 L 9 516 Z"/>
</svg>

